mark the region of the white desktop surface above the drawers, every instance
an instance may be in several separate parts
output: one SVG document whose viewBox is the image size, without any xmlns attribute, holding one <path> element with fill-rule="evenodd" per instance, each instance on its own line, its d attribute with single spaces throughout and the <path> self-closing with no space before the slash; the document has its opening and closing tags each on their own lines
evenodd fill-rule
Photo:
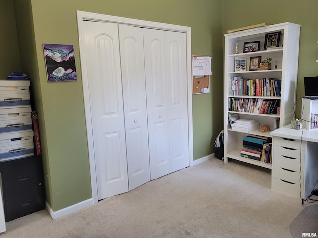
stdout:
<svg viewBox="0 0 318 238">
<path fill-rule="evenodd" d="M 318 129 L 308 130 L 304 128 L 300 130 L 293 130 L 291 129 L 291 125 L 289 124 L 284 126 L 283 128 L 279 128 L 270 132 L 270 134 L 272 136 L 318 143 Z"/>
</svg>

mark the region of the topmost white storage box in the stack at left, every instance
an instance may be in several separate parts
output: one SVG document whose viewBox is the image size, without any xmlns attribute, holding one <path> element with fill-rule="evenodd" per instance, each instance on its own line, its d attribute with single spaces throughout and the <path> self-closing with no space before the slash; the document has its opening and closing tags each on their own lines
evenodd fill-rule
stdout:
<svg viewBox="0 0 318 238">
<path fill-rule="evenodd" d="M 29 88 L 28 80 L 0 80 L 0 108 L 31 106 Z"/>
</svg>

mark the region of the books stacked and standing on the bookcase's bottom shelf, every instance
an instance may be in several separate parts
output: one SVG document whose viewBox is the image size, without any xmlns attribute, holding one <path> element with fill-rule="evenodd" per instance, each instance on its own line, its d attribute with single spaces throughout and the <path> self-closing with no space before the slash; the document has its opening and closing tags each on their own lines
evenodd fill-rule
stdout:
<svg viewBox="0 0 318 238">
<path fill-rule="evenodd" d="M 240 156 L 271 163 L 271 138 L 244 136 Z"/>
</svg>

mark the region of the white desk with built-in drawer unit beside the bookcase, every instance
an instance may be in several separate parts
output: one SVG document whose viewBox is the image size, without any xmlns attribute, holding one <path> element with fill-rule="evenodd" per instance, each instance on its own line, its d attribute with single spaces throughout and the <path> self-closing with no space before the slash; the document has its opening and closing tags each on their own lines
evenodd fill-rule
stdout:
<svg viewBox="0 0 318 238">
<path fill-rule="evenodd" d="M 272 189 L 306 199 L 318 188 L 318 129 L 293 130 L 287 125 L 270 134 Z"/>
</svg>

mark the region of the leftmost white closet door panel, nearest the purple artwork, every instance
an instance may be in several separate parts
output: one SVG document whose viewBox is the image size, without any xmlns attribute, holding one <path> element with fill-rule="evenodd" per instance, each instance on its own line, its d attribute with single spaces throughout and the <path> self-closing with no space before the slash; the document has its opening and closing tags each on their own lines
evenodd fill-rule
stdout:
<svg viewBox="0 0 318 238">
<path fill-rule="evenodd" d="M 98 200 L 128 191 L 118 25 L 85 21 Z"/>
</svg>

